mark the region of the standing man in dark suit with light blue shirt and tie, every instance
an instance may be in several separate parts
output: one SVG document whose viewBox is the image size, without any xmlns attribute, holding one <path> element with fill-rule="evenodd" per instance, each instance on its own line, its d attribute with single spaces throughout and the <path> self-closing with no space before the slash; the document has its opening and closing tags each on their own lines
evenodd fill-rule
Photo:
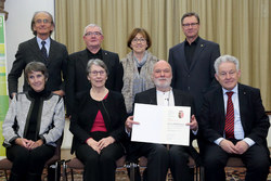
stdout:
<svg viewBox="0 0 271 181">
<path fill-rule="evenodd" d="M 65 94 L 65 79 L 67 68 L 67 49 L 64 44 L 51 39 L 50 35 L 54 29 L 53 17 L 49 12 L 36 12 L 31 20 L 31 30 L 35 38 L 18 46 L 16 60 L 13 62 L 12 69 L 8 76 L 9 93 L 13 98 L 17 92 L 18 78 L 25 66 L 29 62 L 42 62 L 49 72 L 47 89 L 63 96 Z M 43 43 L 43 46 L 42 46 Z M 23 90 L 29 86 L 24 80 Z"/>
</svg>

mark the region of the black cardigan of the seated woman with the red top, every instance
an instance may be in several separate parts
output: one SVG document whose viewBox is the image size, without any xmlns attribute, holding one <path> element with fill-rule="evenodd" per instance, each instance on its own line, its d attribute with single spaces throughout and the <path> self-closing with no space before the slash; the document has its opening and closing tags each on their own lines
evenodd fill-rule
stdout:
<svg viewBox="0 0 271 181">
<path fill-rule="evenodd" d="M 91 128 L 99 109 L 101 111 L 108 135 L 117 142 L 126 139 L 125 121 L 127 116 L 125 99 L 121 93 L 109 91 L 106 100 L 95 101 L 90 98 L 90 91 L 78 94 L 76 100 L 76 112 L 72 115 L 69 130 L 74 134 L 72 154 L 77 143 L 86 143 L 91 137 Z"/>
</svg>

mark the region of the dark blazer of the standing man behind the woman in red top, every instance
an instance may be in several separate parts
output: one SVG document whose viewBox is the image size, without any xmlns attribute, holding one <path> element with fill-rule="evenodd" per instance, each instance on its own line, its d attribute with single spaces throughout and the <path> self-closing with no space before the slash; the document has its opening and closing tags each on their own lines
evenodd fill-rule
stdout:
<svg viewBox="0 0 271 181">
<path fill-rule="evenodd" d="M 117 53 L 113 53 L 106 50 L 102 50 L 103 62 L 107 66 L 109 72 L 105 87 L 109 90 L 121 91 L 124 69 L 119 63 Z M 89 90 L 91 85 L 87 78 L 87 64 L 89 62 L 87 49 L 80 52 L 76 52 L 69 55 L 68 68 L 67 68 L 67 114 L 73 113 L 73 105 L 75 103 L 76 95 Z"/>
</svg>

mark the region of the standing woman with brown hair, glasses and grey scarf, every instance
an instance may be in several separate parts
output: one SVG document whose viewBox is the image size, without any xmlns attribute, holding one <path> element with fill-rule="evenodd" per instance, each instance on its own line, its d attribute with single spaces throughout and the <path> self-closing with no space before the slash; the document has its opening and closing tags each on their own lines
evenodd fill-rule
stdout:
<svg viewBox="0 0 271 181">
<path fill-rule="evenodd" d="M 132 51 L 120 61 L 124 67 L 121 93 L 129 115 L 132 114 L 134 95 L 154 88 L 152 73 L 158 59 L 147 51 L 151 46 L 152 40 L 147 31 L 143 28 L 134 28 L 127 41 L 127 47 Z"/>
</svg>

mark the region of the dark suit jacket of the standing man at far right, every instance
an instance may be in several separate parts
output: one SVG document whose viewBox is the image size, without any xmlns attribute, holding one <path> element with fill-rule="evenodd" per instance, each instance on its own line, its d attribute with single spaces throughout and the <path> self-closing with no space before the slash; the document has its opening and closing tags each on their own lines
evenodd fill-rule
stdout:
<svg viewBox="0 0 271 181">
<path fill-rule="evenodd" d="M 190 67 L 184 54 L 184 41 L 169 50 L 169 64 L 172 67 L 171 86 L 194 96 L 197 114 L 201 111 L 203 95 L 212 83 L 216 85 L 214 63 L 219 56 L 219 44 L 202 38 L 198 39 Z"/>
</svg>

